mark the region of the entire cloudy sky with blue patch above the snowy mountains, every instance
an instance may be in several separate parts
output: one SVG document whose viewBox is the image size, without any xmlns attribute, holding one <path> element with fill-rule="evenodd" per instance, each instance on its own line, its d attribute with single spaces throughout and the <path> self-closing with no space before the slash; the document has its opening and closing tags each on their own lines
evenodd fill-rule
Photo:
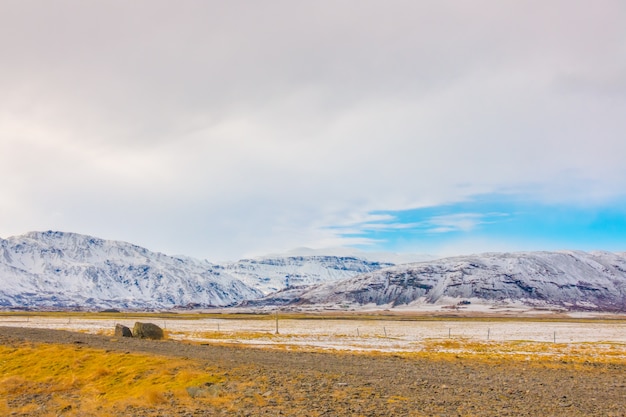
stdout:
<svg viewBox="0 0 626 417">
<path fill-rule="evenodd" d="M 622 0 L 0 0 L 0 237 L 626 251 Z"/>
</svg>

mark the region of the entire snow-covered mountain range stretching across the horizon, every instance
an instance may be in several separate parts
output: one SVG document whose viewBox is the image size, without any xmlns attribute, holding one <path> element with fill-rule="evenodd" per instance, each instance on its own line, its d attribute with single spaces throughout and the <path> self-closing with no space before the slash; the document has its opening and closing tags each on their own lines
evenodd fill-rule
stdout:
<svg viewBox="0 0 626 417">
<path fill-rule="evenodd" d="M 487 253 L 399 266 L 349 256 L 224 265 L 63 232 L 0 239 L 0 308 L 521 303 L 626 311 L 626 254 Z"/>
</svg>

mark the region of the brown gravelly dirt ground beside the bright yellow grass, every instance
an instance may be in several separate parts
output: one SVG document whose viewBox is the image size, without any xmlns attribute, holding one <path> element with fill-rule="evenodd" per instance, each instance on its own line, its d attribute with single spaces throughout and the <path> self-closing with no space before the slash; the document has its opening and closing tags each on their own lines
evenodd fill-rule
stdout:
<svg viewBox="0 0 626 417">
<path fill-rule="evenodd" d="M 624 364 L 289 352 L 0 327 L 0 344 L 21 341 L 190 358 L 239 381 L 262 375 L 270 387 L 251 386 L 228 408 L 135 416 L 626 416 Z M 267 401 L 243 401 L 250 395 Z"/>
</svg>

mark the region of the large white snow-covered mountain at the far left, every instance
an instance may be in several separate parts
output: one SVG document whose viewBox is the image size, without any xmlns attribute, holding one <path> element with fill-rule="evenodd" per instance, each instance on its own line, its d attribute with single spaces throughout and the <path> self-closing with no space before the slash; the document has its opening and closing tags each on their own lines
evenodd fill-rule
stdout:
<svg viewBox="0 0 626 417">
<path fill-rule="evenodd" d="M 63 232 L 0 239 L 0 307 L 226 306 L 261 292 L 207 261 Z"/>
</svg>

